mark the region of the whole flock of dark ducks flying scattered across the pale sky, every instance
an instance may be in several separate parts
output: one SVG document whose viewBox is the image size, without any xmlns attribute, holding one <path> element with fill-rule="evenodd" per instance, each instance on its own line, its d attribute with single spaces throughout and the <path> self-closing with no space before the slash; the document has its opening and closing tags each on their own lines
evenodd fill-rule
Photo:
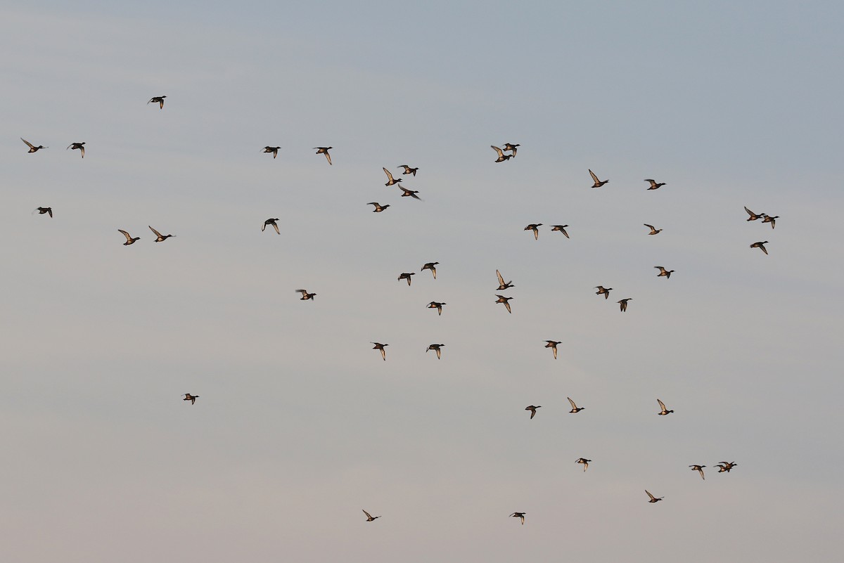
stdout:
<svg viewBox="0 0 844 563">
<path fill-rule="evenodd" d="M 164 101 L 165 101 L 166 97 L 167 96 L 154 96 L 153 98 L 149 99 L 149 102 L 147 102 L 147 104 L 158 104 L 159 108 L 161 110 L 163 110 L 164 109 Z M 37 153 L 38 151 L 40 151 L 43 148 L 49 148 L 49 147 L 44 147 L 43 145 L 39 145 L 39 146 L 36 147 L 35 145 L 33 145 L 31 142 L 27 141 L 23 137 L 21 137 L 20 140 L 23 141 L 24 143 L 26 143 L 26 145 L 28 147 L 30 147 L 29 148 L 30 153 Z M 85 158 L 85 147 L 84 147 L 84 145 L 85 145 L 84 142 L 72 142 L 71 144 L 68 145 L 67 148 L 71 149 L 71 150 L 78 150 L 80 156 L 82 158 Z M 514 144 L 514 143 L 510 143 L 510 142 L 505 143 L 503 148 L 502 147 L 495 147 L 495 145 L 490 145 L 490 147 L 492 147 L 493 150 L 495 150 L 495 153 L 498 155 L 498 158 L 495 159 L 495 163 L 502 163 L 502 162 L 505 162 L 506 160 L 509 160 L 511 158 L 515 158 L 516 154 L 517 154 L 517 147 L 520 147 L 520 146 L 521 145 L 519 145 L 518 143 Z M 262 148 L 262 153 L 272 153 L 273 158 L 277 158 L 279 156 L 279 150 L 280 149 L 281 149 L 281 147 L 267 146 L 267 147 Z M 328 153 L 328 151 L 333 149 L 333 147 L 314 147 L 314 149 L 317 151 L 317 154 L 322 154 L 322 155 L 325 156 L 328 164 L 332 164 L 331 154 Z M 403 169 L 402 175 L 410 174 L 410 175 L 413 175 L 414 177 L 416 176 L 416 173 L 419 171 L 419 168 L 412 168 L 408 164 L 400 164 L 398 166 L 398 168 Z M 402 178 L 398 178 L 398 179 L 395 178 L 392 175 L 392 173 L 390 172 L 390 170 L 388 170 L 387 168 L 383 168 L 383 171 L 384 171 L 384 174 L 387 174 L 387 183 L 385 184 L 386 186 L 398 185 L 398 188 L 402 190 L 402 194 L 401 194 L 402 197 L 412 197 L 416 200 L 420 199 L 419 196 L 417 196 L 417 194 L 419 193 L 418 190 L 408 190 L 408 189 L 404 188 L 402 185 L 400 185 L 400 183 L 403 181 Z M 609 183 L 609 180 L 598 180 L 598 176 L 594 172 L 592 172 L 591 169 L 589 170 L 589 175 L 592 176 L 592 181 L 593 181 L 592 188 L 600 188 L 601 186 Z M 652 180 L 652 179 L 646 179 L 645 181 L 648 182 L 648 184 L 649 184 L 649 187 L 647 188 L 647 190 L 657 190 L 660 187 L 662 187 L 663 185 L 666 185 L 665 182 L 657 182 L 656 180 Z M 387 207 L 390 206 L 389 204 L 381 205 L 380 203 L 378 203 L 376 201 L 371 201 L 371 202 L 367 203 L 366 205 L 375 206 L 375 208 L 373 209 L 373 212 L 375 212 L 375 213 L 384 212 L 387 209 Z M 746 206 L 744 207 L 744 211 L 747 212 L 747 214 L 749 215 L 749 217 L 747 218 L 747 221 L 756 221 L 758 219 L 761 219 L 762 223 L 771 223 L 771 228 L 775 228 L 776 219 L 779 218 L 778 215 L 771 216 L 771 215 L 768 215 L 766 213 L 752 212 Z M 35 213 L 35 212 L 38 212 L 39 215 L 48 214 L 50 217 L 53 216 L 53 211 L 52 211 L 51 207 L 39 206 L 39 207 L 35 208 L 35 211 L 33 211 L 33 213 Z M 276 233 L 281 234 L 281 231 L 279 230 L 279 224 L 277 223 L 278 221 L 279 221 L 279 217 L 268 218 L 266 221 L 264 221 L 264 223 L 261 227 L 261 231 L 263 232 L 267 227 L 272 227 L 272 228 L 275 229 Z M 650 229 L 650 233 L 647 233 L 648 235 L 655 235 L 655 234 L 661 233 L 663 231 L 662 228 L 655 228 L 653 225 L 650 225 L 648 223 L 643 223 L 643 224 L 644 224 L 645 227 Z M 527 227 L 525 227 L 524 230 L 532 231 L 533 232 L 533 238 L 538 240 L 539 239 L 539 227 L 541 227 L 541 226 L 543 226 L 543 223 L 531 223 L 531 224 L 527 225 Z M 565 230 L 566 228 L 569 227 L 568 225 L 551 225 L 551 227 L 552 227 L 551 228 L 552 232 L 554 232 L 554 231 L 559 232 L 559 233 L 563 234 L 566 239 L 570 239 L 569 233 Z M 133 237 L 131 234 L 129 234 L 127 231 L 125 231 L 123 229 L 117 229 L 117 230 L 118 230 L 119 233 L 122 233 L 122 235 L 126 238 L 126 242 L 123 243 L 124 246 L 129 246 L 131 244 L 134 244 L 138 240 L 140 240 L 140 237 Z M 152 227 L 149 227 L 149 230 L 152 231 L 152 233 L 154 233 L 154 235 L 156 237 L 154 242 L 157 242 L 157 243 L 164 242 L 166 239 L 170 239 L 171 237 L 176 236 L 174 234 L 161 234 L 159 231 L 155 230 Z M 750 248 L 758 248 L 767 255 L 768 251 L 765 248 L 765 244 L 768 244 L 767 240 L 756 242 L 754 244 L 750 244 Z M 438 264 L 439 264 L 439 262 L 427 262 L 427 263 L 425 263 L 425 265 L 422 266 L 420 271 L 430 270 L 431 275 L 436 280 L 436 265 L 438 265 Z M 653 267 L 656 268 L 657 270 L 659 270 L 657 277 L 665 277 L 666 279 L 669 279 L 671 277 L 671 274 L 674 272 L 674 270 L 666 270 L 661 265 L 655 265 Z M 398 276 L 398 281 L 405 280 L 405 281 L 407 281 L 408 286 L 410 286 L 411 281 L 412 281 L 411 276 L 414 276 L 414 275 L 415 275 L 415 272 L 402 272 Z M 505 291 L 506 289 L 508 289 L 510 287 L 514 287 L 512 281 L 504 281 L 504 276 L 501 275 L 500 271 L 496 270 L 495 276 L 497 276 L 497 278 L 498 278 L 497 291 Z M 612 287 L 595 286 L 595 289 L 598 290 L 598 292 L 596 292 L 596 294 L 598 296 L 603 295 L 604 299 L 609 299 L 609 292 L 612 291 L 613 288 Z M 302 300 L 302 301 L 309 301 L 309 300 L 313 301 L 314 298 L 317 296 L 317 293 L 308 292 L 306 289 L 297 289 L 295 291 L 299 292 L 301 294 L 300 300 Z M 497 293 L 495 294 L 495 297 L 497 298 L 495 300 L 495 303 L 503 304 L 504 307 L 507 310 L 507 313 L 512 314 L 512 309 L 511 309 L 511 306 L 510 306 L 510 300 L 512 298 L 506 297 L 506 296 L 503 296 L 503 295 L 500 295 L 500 294 L 497 294 Z M 619 307 L 620 307 L 622 313 L 624 313 L 627 310 L 627 303 L 631 300 L 632 300 L 632 298 L 624 298 L 624 299 L 621 299 L 617 302 L 617 303 L 619 303 Z M 443 308 L 444 305 L 446 305 L 446 303 L 439 303 L 439 302 L 436 302 L 436 301 L 432 301 L 428 304 L 427 307 L 428 308 L 436 308 L 437 314 L 441 315 L 442 314 L 442 308 Z M 544 347 L 550 348 L 551 351 L 554 352 L 554 358 L 557 359 L 557 345 L 561 344 L 561 341 L 545 340 L 545 342 L 546 342 L 546 344 L 545 344 Z M 380 342 L 371 342 L 371 344 L 375 345 L 372 348 L 373 350 L 377 350 L 377 351 L 381 352 L 381 359 L 386 362 L 387 361 L 386 347 L 389 346 L 389 344 L 382 344 Z M 439 360 L 439 359 L 441 359 L 441 353 L 442 353 L 441 348 L 443 346 L 446 346 L 446 345 L 445 344 L 430 344 L 427 347 L 427 349 L 425 350 L 425 352 L 435 351 L 436 352 L 436 358 Z M 194 405 L 198 398 L 199 398 L 199 395 L 186 393 L 185 396 L 184 396 L 184 399 L 182 399 L 182 400 L 186 400 L 186 401 L 189 400 L 189 401 L 191 401 L 191 405 Z M 578 407 L 576 405 L 575 401 L 573 399 L 571 399 L 571 397 L 566 397 L 566 399 L 568 399 L 569 403 L 571 404 L 571 410 L 569 411 L 571 414 L 577 414 L 581 410 L 585 409 L 585 407 Z M 660 410 L 657 413 L 657 415 L 659 415 L 659 416 L 667 416 L 667 415 L 674 412 L 674 410 L 668 410 L 668 408 L 666 408 L 665 404 L 663 403 L 663 401 L 661 399 L 657 399 L 657 404 L 660 407 Z M 525 410 L 530 411 L 530 418 L 533 419 L 533 417 L 536 416 L 536 414 L 537 414 L 537 409 L 539 409 L 541 407 L 542 407 L 542 405 L 528 405 L 527 407 L 525 407 Z M 583 465 L 583 471 L 586 471 L 589 468 L 589 464 L 591 462 L 592 462 L 592 459 L 587 459 L 587 458 L 577 458 L 576 461 L 575 461 L 576 464 L 582 464 Z M 735 463 L 735 462 L 722 461 L 722 462 L 719 462 L 718 464 L 714 465 L 714 467 L 718 468 L 718 473 L 729 473 L 730 470 L 733 469 L 733 467 L 735 467 L 736 465 L 738 465 L 738 464 Z M 706 465 L 693 464 L 693 465 L 690 465 L 689 467 L 692 471 L 697 471 L 701 475 L 701 479 L 706 480 L 706 477 L 704 476 L 704 472 L 703 472 L 703 468 L 705 468 Z M 662 501 L 663 498 L 664 498 L 663 496 L 659 496 L 659 497 L 653 496 L 647 490 L 645 492 L 647 493 L 647 496 L 649 498 L 648 502 L 651 502 L 651 503 Z M 366 516 L 366 522 L 374 522 L 376 520 L 376 518 L 381 517 L 381 516 L 372 516 L 369 512 L 366 512 L 365 510 L 363 512 Z M 525 523 L 525 515 L 526 514 L 527 514 L 527 512 L 512 512 L 510 514 L 510 517 L 519 518 L 522 521 L 522 525 L 523 525 Z"/>
</svg>

